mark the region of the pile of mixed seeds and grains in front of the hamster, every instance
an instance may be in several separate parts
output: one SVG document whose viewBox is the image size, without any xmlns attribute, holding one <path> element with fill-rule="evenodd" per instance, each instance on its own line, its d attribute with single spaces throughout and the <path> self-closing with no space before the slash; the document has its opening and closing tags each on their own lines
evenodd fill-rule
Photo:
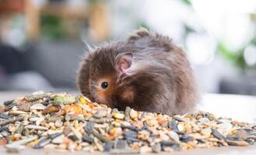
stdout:
<svg viewBox="0 0 256 155">
<path fill-rule="evenodd" d="M 187 115 L 108 108 L 82 95 L 37 91 L 0 105 L 0 146 L 160 153 L 212 146 L 248 146 L 256 125 L 208 112 Z"/>
</svg>

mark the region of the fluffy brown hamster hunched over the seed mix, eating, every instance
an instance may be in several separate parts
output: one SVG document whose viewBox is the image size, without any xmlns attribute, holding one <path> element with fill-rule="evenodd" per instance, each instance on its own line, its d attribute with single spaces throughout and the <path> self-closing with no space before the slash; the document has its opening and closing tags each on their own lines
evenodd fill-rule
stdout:
<svg viewBox="0 0 256 155">
<path fill-rule="evenodd" d="M 146 29 L 87 53 L 78 87 L 111 108 L 130 106 L 168 115 L 191 112 L 198 97 L 184 51 L 169 37 Z"/>
</svg>

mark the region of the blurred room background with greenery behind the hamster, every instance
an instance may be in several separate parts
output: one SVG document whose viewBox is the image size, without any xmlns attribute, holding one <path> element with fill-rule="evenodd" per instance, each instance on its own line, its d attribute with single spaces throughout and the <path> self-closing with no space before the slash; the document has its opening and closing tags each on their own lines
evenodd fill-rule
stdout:
<svg viewBox="0 0 256 155">
<path fill-rule="evenodd" d="M 255 0 L 0 0 L 0 91 L 77 91 L 85 43 L 141 26 L 186 50 L 202 92 L 256 95 Z"/>
</svg>

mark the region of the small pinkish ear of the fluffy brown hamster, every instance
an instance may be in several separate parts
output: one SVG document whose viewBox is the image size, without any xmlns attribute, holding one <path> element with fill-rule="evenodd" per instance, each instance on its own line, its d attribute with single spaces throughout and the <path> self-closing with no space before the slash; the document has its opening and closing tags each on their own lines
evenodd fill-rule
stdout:
<svg viewBox="0 0 256 155">
<path fill-rule="evenodd" d="M 117 57 L 117 77 L 120 77 L 124 72 L 132 66 L 132 53 L 124 53 Z"/>
</svg>

